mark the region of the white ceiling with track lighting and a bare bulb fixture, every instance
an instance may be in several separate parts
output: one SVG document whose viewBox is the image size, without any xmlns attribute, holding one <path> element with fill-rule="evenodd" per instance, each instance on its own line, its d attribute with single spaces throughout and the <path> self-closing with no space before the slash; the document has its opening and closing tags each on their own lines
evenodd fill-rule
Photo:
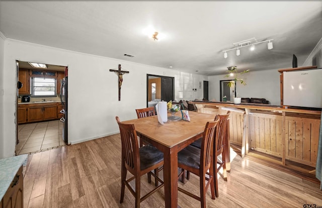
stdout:
<svg viewBox="0 0 322 208">
<path fill-rule="evenodd" d="M 144 35 L 148 26 L 164 39 Z M 0 31 L 10 39 L 204 75 L 223 74 L 231 65 L 291 68 L 292 54 L 301 66 L 322 37 L 322 1 L 0 0 Z M 274 39 L 274 48 L 261 43 L 223 58 L 222 50 L 250 38 Z"/>
</svg>

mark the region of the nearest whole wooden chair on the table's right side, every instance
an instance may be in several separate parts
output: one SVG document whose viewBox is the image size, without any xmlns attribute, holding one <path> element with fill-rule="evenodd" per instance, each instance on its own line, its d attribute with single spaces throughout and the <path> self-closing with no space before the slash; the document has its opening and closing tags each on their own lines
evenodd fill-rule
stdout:
<svg viewBox="0 0 322 208">
<path fill-rule="evenodd" d="M 201 207 L 206 207 L 206 192 L 210 185 L 211 198 L 215 199 L 214 192 L 214 173 L 213 173 L 213 138 L 215 135 L 215 127 L 219 122 L 219 117 L 215 117 L 215 121 L 207 122 L 203 132 L 201 149 L 189 145 L 180 152 L 178 152 L 178 167 L 182 169 L 178 178 L 184 182 L 185 170 L 194 173 L 200 178 L 200 197 L 178 187 L 178 190 L 199 200 Z M 209 172 L 208 172 L 209 170 Z M 206 177 L 206 174 L 209 177 Z M 207 180 L 207 184 L 205 184 Z"/>
</svg>

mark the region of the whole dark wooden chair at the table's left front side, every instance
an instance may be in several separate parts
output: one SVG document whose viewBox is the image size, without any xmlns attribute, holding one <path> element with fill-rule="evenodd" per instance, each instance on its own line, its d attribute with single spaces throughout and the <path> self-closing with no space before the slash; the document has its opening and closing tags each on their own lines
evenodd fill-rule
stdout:
<svg viewBox="0 0 322 208">
<path fill-rule="evenodd" d="M 122 143 L 120 203 L 123 202 L 126 185 L 135 197 L 135 207 L 140 207 L 141 201 L 164 186 L 164 182 L 152 173 L 152 170 L 157 169 L 159 166 L 164 164 L 163 152 L 160 152 L 152 145 L 145 145 L 139 148 L 134 125 L 122 123 L 118 117 L 115 119 L 119 125 Z M 133 177 L 126 179 L 127 171 L 129 171 Z M 160 185 L 156 186 L 153 190 L 141 197 L 140 179 L 145 173 L 147 173 L 149 183 L 151 182 L 151 175 L 153 175 L 154 178 L 160 182 Z M 133 179 L 135 179 L 135 190 L 133 190 L 129 184 Z"/>
</svg>

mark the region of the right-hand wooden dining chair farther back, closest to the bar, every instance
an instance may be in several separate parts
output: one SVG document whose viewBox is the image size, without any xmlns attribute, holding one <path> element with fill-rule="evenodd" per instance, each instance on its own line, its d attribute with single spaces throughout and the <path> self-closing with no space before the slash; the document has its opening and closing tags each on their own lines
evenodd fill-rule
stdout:
<svg viewBox="0 0 322 208">
<path fill-rule="evenodd" d="M 218 197 L 218 178 L 217 173 L 222 168 L 222 176 L 225 181 L 227 181 L 227 170 L 226 170 L 226 156 L 229 156 L 225 154 L 223 151 L 224 149 L 224 141 L 226 140 L 226 137 L 228 137 L 227 127 L 228 127 L 228 117 L 230 115 L 230 111 L 228 111 L 225 115 L 218 115 L 219 116 L 219 123 L 216 127 L 216 134 L 215 134 L 215 142 L 214 142 L 214 175 L 215 178 L 215 194 L 216 197 Z M 201 148 L 201 139 L 195 141 L 191 144 L 191 146 Z M 221 154 L 221 160 L 218 160 L 218 156 Z M 189 180 L 190 173 L 187 171 L 187 179 Z"/>
</svg>

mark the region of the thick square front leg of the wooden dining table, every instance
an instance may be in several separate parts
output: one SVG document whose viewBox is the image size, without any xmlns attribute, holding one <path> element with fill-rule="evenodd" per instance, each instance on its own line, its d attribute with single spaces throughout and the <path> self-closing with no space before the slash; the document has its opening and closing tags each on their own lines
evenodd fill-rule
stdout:
<svg viewBox="0 0 322 208">
<path fill-rule="evenodd" d="M 176 148 L 165 148 L 164 182 L 166 207 L 178 207 L 178 151 Z"/>
</svg>

